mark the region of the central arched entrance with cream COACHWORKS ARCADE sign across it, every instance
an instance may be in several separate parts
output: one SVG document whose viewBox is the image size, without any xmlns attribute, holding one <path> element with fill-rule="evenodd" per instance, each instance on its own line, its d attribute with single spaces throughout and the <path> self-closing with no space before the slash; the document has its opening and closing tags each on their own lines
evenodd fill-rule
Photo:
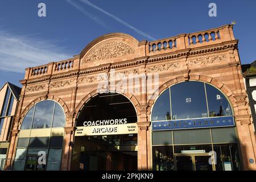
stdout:
<svg viewBox="0 0 256 182">
<path fill-rule="evenodd" d="M 137 170 L 137 113 L 118 93 L 102 93 L 80 110 L 72 170 Z"/>
</svg>

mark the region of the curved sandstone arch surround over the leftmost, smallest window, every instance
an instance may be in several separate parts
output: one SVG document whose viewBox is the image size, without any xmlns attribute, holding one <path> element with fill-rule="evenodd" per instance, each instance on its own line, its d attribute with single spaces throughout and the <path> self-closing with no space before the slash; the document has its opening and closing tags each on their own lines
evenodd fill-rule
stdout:
<svg viewBox="0 0 256 182">
<path fill-rule="evenodd" d="M 30 104 L 28 104 L 25 109 L 22 111 L 22 113 L 20 114 L 20 121 L 19 121 L 19 126 L 22 125 L 22 121 L 23 121 L 23 118 L 24 116 L 26 115 L 27 111 L 33 106 L 35 105 L 37 102 L 40 102 L 40 101 L 44 101 L 44 100 L 54 100 L 56 101 L 57 103 L 59 103 L 61 105 L 61 107 L 63 107 L 64 109 L 64 113 L 65 113 L 65 117 L 66 117 L 66 121 L 67 121 L 67 114 L 69 113 L 69 109 L 68 109 L 68 106 L 67 104 L 65 104 L 65 102 L 59 98 L 59 97 L 56 97 L 56 96 L 53 96 L 53 95 L 48 95 L 47 97 L 46 96 L 41 96 L 41 97 L 38 97 L 36 98 L 35 100 L 33 100 L 32 102 L 30 102 Z"/>
</svg>

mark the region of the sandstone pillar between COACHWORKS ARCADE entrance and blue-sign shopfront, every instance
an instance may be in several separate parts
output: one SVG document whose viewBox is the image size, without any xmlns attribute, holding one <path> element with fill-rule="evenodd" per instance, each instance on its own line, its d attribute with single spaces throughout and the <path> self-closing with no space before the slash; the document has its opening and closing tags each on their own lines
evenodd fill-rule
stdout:
<svg viewBox="0 0 256 182">
<path fill-rule="evenodd" d="M 146 119 L 146 109 L 138 117 L 138 170 L 148 170 L 151 166 L 150 122 Z"/>
</svg>

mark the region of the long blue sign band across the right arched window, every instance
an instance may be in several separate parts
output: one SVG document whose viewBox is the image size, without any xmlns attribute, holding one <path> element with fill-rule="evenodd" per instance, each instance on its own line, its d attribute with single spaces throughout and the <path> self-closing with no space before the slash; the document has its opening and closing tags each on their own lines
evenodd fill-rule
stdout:
<svg viewBox="0 0 256 182">
<path fill-rule="evenodd" d="M 152 130 L 179 130 L 196 129 L 204 127 L 234 126 L 233 116 L 199 118 L 199 119 L 177 119 L 169 121 L 153 121 Z"/>
</svg>

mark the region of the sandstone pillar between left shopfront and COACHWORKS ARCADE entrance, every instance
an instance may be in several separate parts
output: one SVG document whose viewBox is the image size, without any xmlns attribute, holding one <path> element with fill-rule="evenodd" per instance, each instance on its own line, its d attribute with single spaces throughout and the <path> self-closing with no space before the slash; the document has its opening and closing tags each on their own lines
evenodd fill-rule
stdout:
<svg viewBox="0 0 256 182">
<path fill-rule="evenodd" d="M 61 171 L 69 171 L 71 168 L 71 158 L 73 149 L 73 139 L 75 135 L 75 127 L 64 127 L 64 142 L 61 160 Z"/>
</svg>

